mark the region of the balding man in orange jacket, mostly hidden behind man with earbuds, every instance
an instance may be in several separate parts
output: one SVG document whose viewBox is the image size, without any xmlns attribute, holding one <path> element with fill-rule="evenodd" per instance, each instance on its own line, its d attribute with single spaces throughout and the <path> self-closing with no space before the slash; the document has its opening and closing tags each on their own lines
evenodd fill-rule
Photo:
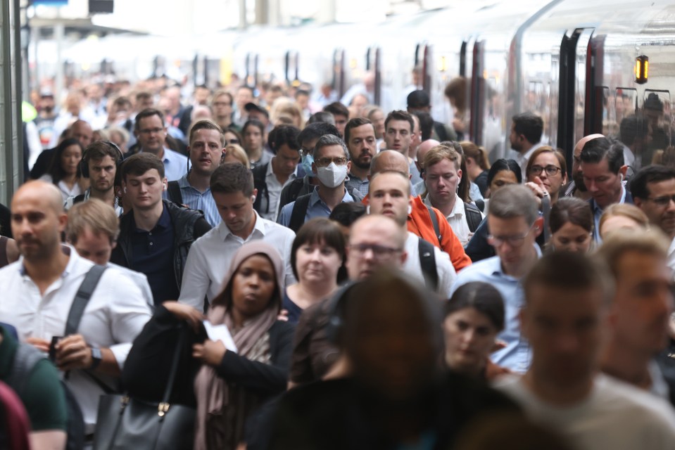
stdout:
<svg viewBox="0 0 675 450">
<path fill-rule="evenodd" d="M 377 153 L 370 164 L 370 176 L 372 177 L 378 172 L 389 171 L 400 172 L 410 179 L 408 158 L 396 150 L 382 150 Z M 455 236 L 443 214 L 434 207 L 424 205 L 422 198 L 415 193 L 411 194 L 411 202 L 412 208 L 408 213 L 408 231 L 428 240 L 443 252 L 448 253 L 455 271 L 459 272 L 471 264 L 471 259 L 467 256 L 462 243 Z M 368 197 L 363 199 L 363 203 L 368 204 Z M 434 214 L 434 216 L 431 214 Z"/>
</svg>

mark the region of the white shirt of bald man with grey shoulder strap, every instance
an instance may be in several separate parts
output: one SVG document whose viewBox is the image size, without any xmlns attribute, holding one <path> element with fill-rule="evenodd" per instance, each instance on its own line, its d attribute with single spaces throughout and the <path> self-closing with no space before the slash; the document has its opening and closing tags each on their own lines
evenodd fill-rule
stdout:
<svg viewBox="0 0 675 450">
<path fill-rule="evenodd" d="M 0 269 L 2 321 L 14 326 L 22 341 L 27 338 L 51 341 L 53 336 L 63 336 L 72 300 L 93 265 L 70 248 L 65 271 L 44 295 L 25 273 L 23 258 Z M 115 267 L 109 267 L 84 309 L 77 332 L 88 345 L 111 349 L 121 369 L 134 338 L 150 318 L 150 308 L 138 286 Z M 96 378 L 115 386 L 113 377 L 96 373 Z M 70 371 L 67 383 L 82 409 L 86 432 L 93 432 L 103 390 L 82 371 Z"/>
</svg>

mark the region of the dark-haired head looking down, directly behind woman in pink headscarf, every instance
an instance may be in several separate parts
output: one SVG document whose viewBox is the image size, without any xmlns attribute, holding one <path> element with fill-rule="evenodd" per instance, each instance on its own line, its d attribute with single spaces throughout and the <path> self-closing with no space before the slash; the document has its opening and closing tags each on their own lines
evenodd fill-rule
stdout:
<svg viewBox="0 0 675 450">
<path fill-rule="evenodd" d="M 223 223 L 232 233 L 245 233 L 256 220 L 253 203 L 257 189 L 253 188 L 251 169 L 239 162 L 226 162 L 211 175 L 211 195 Z"/>
</svg>

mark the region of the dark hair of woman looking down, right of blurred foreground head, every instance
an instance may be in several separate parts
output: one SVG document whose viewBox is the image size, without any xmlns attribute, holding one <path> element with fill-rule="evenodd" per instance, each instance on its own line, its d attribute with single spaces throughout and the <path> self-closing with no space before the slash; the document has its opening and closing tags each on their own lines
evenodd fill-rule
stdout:
<svg viewBox="0 0 675 450">
<path fill-rule="evenodd" d="M 498 331 L 504 329 L 504 299 L 493 285 L 482 281 L 461 285 L 443 307 L 443 317 L 467 308 L 486 316 Z"/>
</svg>

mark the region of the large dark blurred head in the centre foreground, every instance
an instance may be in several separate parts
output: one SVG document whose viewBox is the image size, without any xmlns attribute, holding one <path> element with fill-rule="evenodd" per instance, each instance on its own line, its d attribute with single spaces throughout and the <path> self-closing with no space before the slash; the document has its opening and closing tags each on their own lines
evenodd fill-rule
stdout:
<svg viewBox="0 0 675 450">
<path fill-rule="evenodd" d="M 441 370 L 436 295 L 386 268 L 352 285 L 340 300 L 338 345 L 355 382 L 386 404 L 419 399 Z"/>
</svg>

